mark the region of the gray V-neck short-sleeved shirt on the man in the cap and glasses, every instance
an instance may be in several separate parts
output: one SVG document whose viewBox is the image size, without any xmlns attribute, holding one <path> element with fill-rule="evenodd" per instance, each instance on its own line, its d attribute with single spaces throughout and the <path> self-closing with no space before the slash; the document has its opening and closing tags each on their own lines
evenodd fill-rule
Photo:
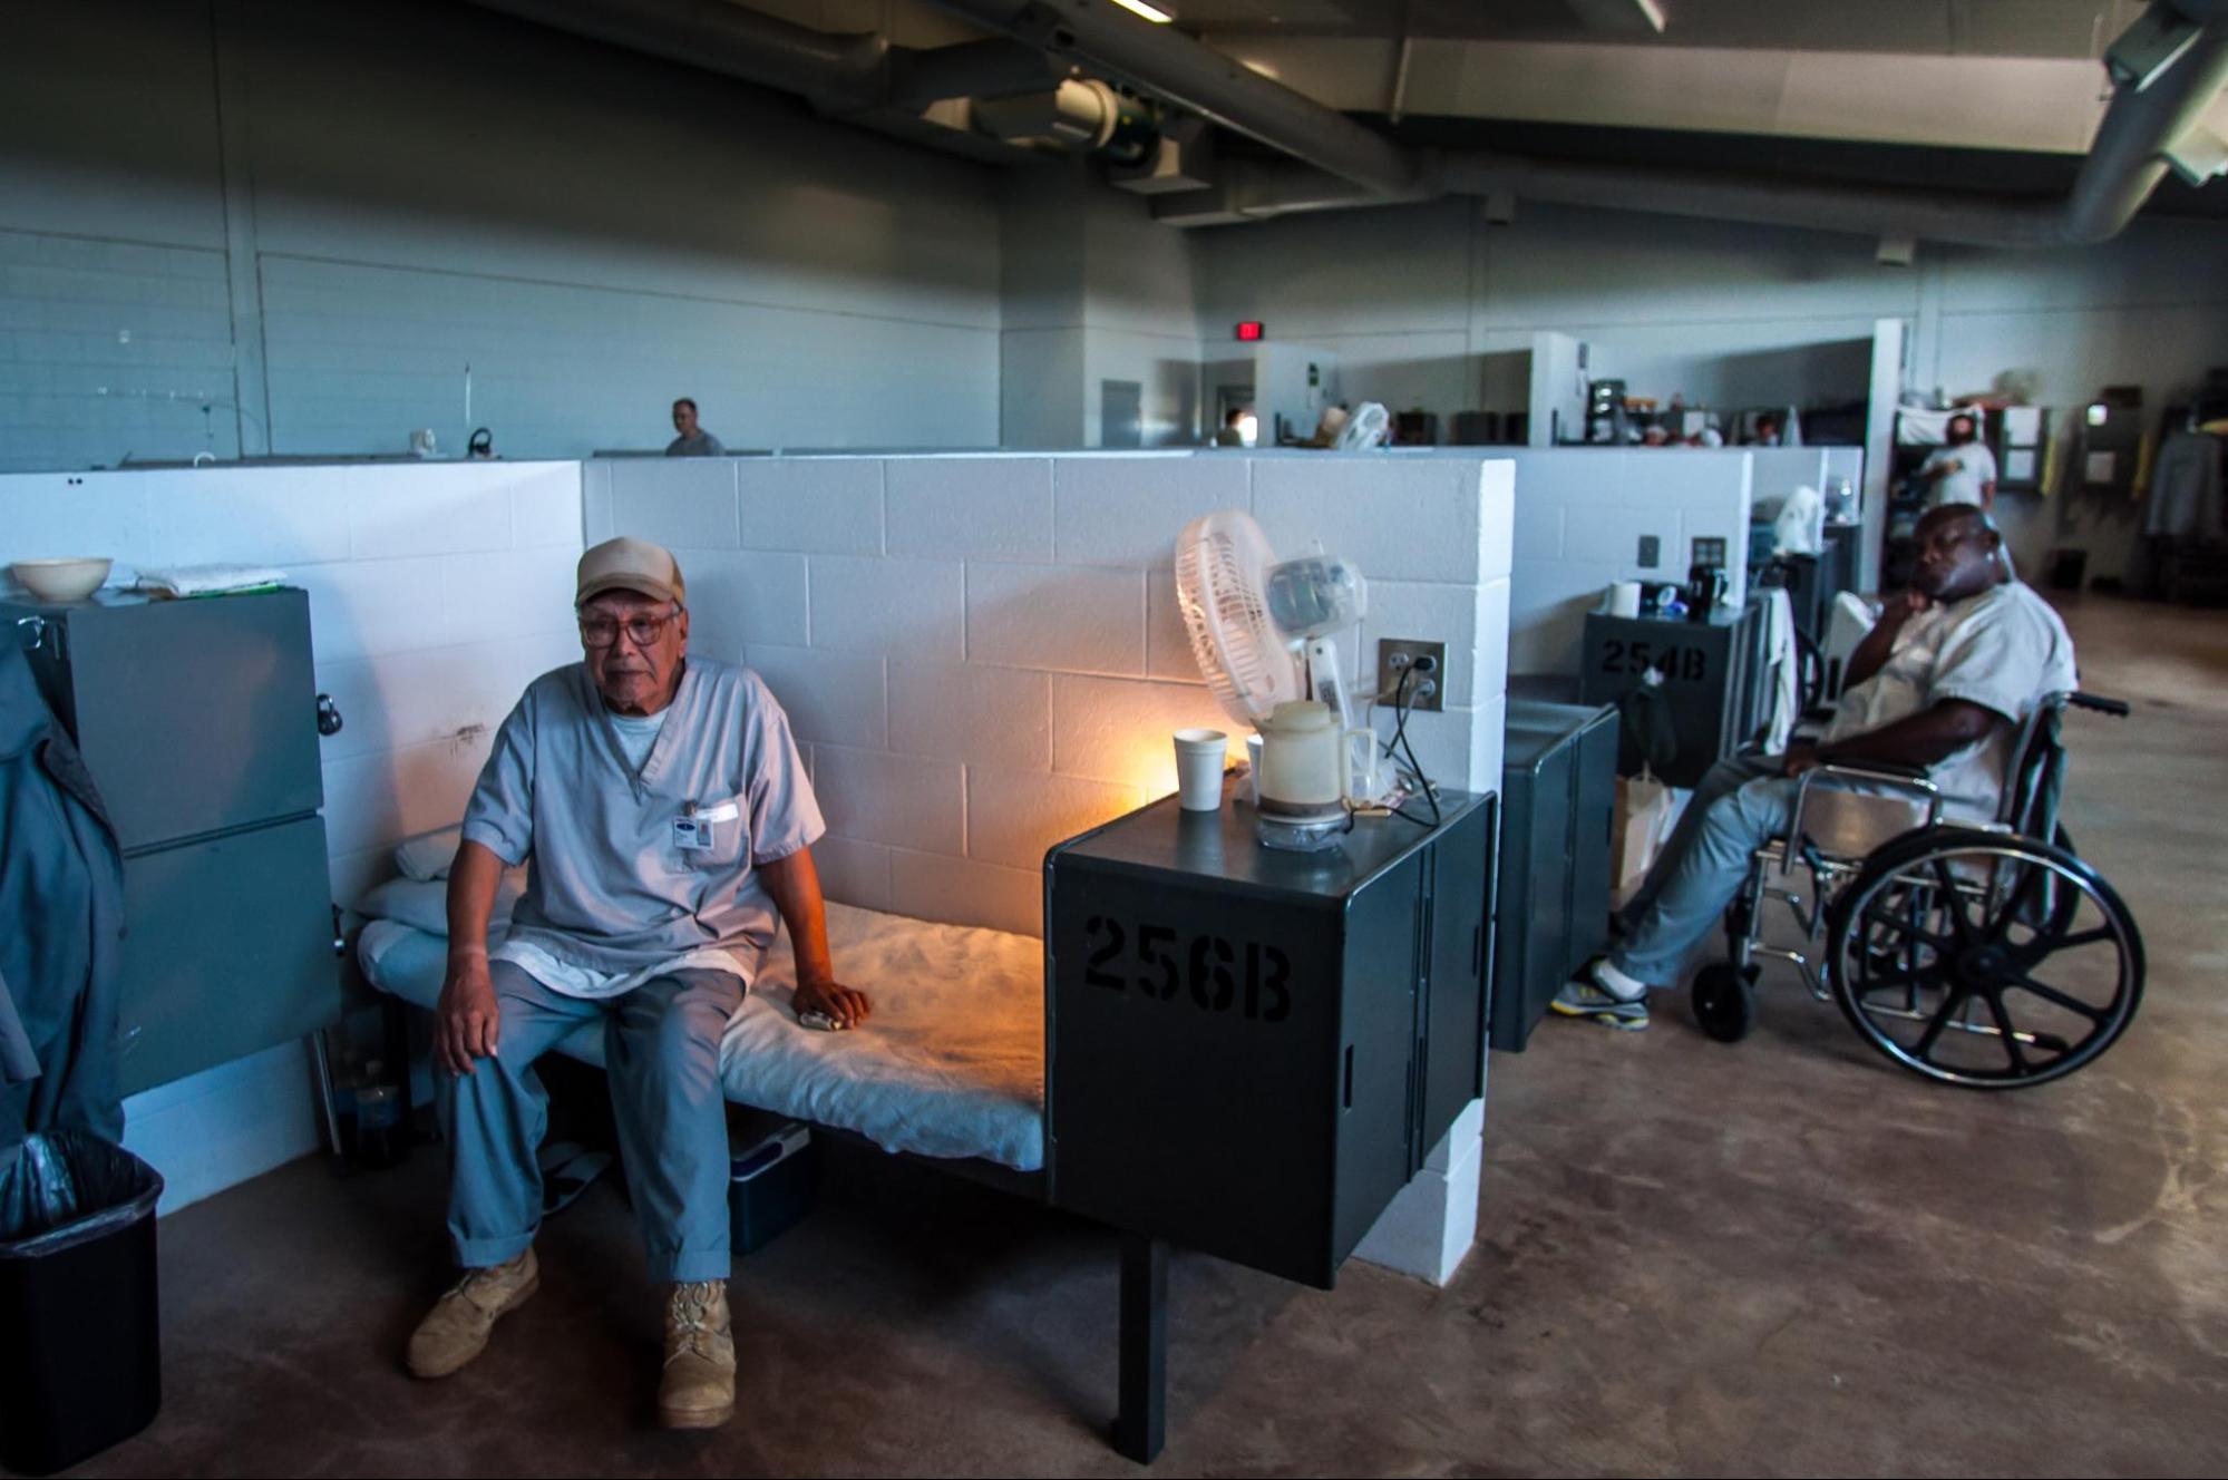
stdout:
<svg viewBox="0 0 2228 1480">
<path fill-rule="evenodd" d="M 675 822 L 704 814 L 711 847 Z M 586 664 L 544 673 L 495 736 L 463 836 L 532 865 L 504 947 L 570 967 L 544 981 L 608 996 L 695 952 L 755 981 L 780 916 L 755 865 L 827 825 L 789 715 L 749 669 L 688 658 L 648 758 L 633 767 Z M 588 983 L 588 985 L 582 985 Z"/>
</svg>

